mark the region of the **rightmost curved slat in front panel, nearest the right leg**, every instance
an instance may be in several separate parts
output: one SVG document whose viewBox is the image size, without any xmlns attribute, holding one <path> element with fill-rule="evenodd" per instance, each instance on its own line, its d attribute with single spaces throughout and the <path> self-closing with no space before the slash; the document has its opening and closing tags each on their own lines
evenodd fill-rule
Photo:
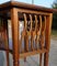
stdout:
<svg viewBox="0 0 57 66">
<path fill-rule="evenodd" d="M 46 16 L 44 16 L 44 22 L 42 24 L 42 33 L 41 33 L 41 48 L 44 48 L 45 43 L 45 30 L 46 30 Z"/>
</svg>

